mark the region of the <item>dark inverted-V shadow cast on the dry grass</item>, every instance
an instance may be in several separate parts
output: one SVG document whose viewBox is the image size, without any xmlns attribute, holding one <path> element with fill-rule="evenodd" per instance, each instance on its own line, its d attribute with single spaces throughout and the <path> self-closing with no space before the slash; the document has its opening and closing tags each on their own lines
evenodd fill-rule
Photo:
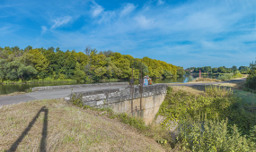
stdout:
<svg viewBox="0 0 256 152">
<path fill-rule="evenodd" d="M 33 124 L 37 121 L 37 119 L 40 116 L 40 113 L 44 112 L 44 122 L 43 122 L 43 128 L 42 128 L 42 137 L 40 141 L 40 152 L 45 152 L 46 151 L 46 146 L 47 146 L 47 130 L 48 130 L 48 114 L 49 110 L 47 109 L 46 106 L 43 106 L 38 114 L 32 119 L 30 122 L 29 126 L 22 132 L 22 135 L 13 143 L 12 147 L 8 149 L 8 151 L 16 151 L 18 148 L 19 144 L 22 142 L 22 139 L 28 134 L 28 132 L 31 130 L 31 127 Z"/>
</svg>

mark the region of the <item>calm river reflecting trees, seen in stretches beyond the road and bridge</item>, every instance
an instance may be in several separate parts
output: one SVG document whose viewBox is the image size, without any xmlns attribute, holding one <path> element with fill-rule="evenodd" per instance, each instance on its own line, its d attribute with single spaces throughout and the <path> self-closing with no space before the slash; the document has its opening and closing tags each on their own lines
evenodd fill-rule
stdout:
<svg viewBox="0 0 256 152">
<path fill-rule="evenodd" d="M 207 75 L 203 75 L 203 77 L 207 77 Z M 194 77 L 195 79 L 197 77 Z M 216 76 L 209 75 L 208 78 L 216 79 Z M 172 77 L 165 79 L 153 79 L 153 84 L 155 83 L 186 83 L 189 80 L 188 75 L 184 75 L 183 77 Z M 90 82 L 86 82 L 90 83 Z M 92 83 L 92 82 L 91 82 Z M 93 82 L 93 83 L 101 83 L 101 82 Z M 138 80 L 135 80 L 135 84 L 138 83 Z M 0 95 L 10 94 L 13 92 L 24 92 L 26 89 L 30 89 L 33 87 L 43 87 L 43 86 L 60 86 L 60 85 L 73 85 L 77 84 L 75 82 L 66 82 L 66 83 L 27 83 L 27 84 L 0 84 Z"/>
</svg>

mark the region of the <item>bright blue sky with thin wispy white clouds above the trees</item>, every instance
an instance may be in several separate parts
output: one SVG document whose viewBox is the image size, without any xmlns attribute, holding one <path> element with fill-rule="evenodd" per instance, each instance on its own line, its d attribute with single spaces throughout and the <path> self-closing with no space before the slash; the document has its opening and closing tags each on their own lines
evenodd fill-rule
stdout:
<svg viewBox="0 0 256 152">
<path fill-rule="evenodd" d="M 0 46 L 90 45 L 183 66 L 249 65 L 255 0 L 0 0 Z"/>
</svg>

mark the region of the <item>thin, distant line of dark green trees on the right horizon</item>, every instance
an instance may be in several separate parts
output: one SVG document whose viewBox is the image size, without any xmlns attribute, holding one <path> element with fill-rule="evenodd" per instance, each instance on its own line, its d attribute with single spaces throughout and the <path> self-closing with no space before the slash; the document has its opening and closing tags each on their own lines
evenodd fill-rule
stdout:
<svg viewBox="0 0 256 152">
<path fill-rule="evenodd" d="M 232 68 L 226 68 L 225 66 L 220 66 L 218 68 L 212 68 L 211 66 L 205 66 L 205 67 L 190 67 L 188 68 L 190 70 L 194 70 L 194 72 L 209 72 L 209 73 L 231 73 L 231 72 L 236 72 L 239 71 L 242 74 L 248 74 L 250 71 L 250 68 L 248 66 L 240 66 L 237 68 L 236 66 L 233 66 Z"/>
</svg>

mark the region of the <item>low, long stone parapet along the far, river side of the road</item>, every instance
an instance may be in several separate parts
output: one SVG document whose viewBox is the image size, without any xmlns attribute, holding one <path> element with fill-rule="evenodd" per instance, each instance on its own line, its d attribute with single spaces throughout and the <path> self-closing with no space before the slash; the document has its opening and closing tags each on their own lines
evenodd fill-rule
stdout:
<svg viewBox="0 0 256 152">
<path fill-rule="evenodd" d="M 62 86 L 45 86 L 34 87 L 32 91 L 43 91 L 51 89 L 71 89 L 71 88 L 90 88 L 90 87 L 104 87 L 104 86 L 125 86 L 128 82 L 110 82 L 110 83 L 93 83 L 93 84 L 76 84 L 76 85 L 62 85 Z"/>
</svg>

